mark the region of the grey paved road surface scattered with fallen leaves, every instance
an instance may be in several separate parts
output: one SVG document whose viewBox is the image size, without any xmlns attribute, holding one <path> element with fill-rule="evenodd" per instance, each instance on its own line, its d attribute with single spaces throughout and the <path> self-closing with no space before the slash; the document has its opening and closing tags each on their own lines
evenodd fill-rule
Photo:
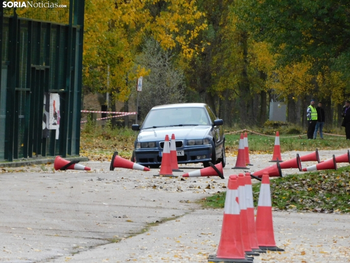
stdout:
<svg viewBox="0 0 350 263">
<path fill-rule="evenodd" d="M 320 156 L 343 153 L 320 151 Z M 270 158 L 250 156 L 251 170 L 271 165 Z M 207 262 L 216 253 L 223 210 L 202 209 L 195 201 L 225 191 L 228 175 L 240 172 L 231 170 L 235 158 L 227 158 L 224 180 L 181 179 L 181 172 L 160 178 L 153 177 L 157 169 L 109 171 L 109 162 L 82 164 L 92 171 L 54 172 L 52 164 L 4 169 L 1 263 Z M 184 172 L 200 165 L 190 167 Z M 273 216 L 275 240 L 285 252 L 261 254 L 254 262 L 350 262 L 349 214 L 274 211 Z"/>
</svg>

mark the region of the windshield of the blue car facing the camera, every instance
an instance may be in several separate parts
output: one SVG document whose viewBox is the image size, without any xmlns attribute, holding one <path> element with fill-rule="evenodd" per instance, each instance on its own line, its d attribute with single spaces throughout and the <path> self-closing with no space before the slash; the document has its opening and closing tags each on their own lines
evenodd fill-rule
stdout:
<svg viewBox="0 0 350 263">
<path fill-rule="evenodd" d="M 191 125 L 210 125 L 204 108 L 179 107 L 153 109 L 147 115 L 143 129 Z"/>
</svg>

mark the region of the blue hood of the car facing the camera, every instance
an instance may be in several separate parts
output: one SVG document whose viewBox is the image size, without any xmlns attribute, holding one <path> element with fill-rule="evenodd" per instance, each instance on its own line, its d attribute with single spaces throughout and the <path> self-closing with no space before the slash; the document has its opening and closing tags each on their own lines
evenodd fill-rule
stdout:
<svg viewBox="0 0 350 263">
<path fill-rule="evenodd" d="M 203 139 L 209 133 L 211 126 L 182 126 L 182 127 L 160 127 L 154 129 L 141 130 L 137 141 L 164 141 L 165 135 L 169 135 L 169 140 L 172 134 L 175 134 L 176 140 L 191 140 Z"/>
</svg>

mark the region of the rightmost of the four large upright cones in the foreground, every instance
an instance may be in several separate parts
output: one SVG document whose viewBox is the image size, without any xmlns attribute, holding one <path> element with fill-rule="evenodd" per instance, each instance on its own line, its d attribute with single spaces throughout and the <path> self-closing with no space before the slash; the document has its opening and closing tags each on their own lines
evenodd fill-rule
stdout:
<svg viewBox="0 0 350 263">
<path fill-rule="evenodd" d="M 278 248 L 275 242 L 272 221 L 270 178 L 267 172 L 264 172 L 261 181 L 255 229 L 259 248 L 271 251 L 284 251 L 283 249 Z"/>
</svg>

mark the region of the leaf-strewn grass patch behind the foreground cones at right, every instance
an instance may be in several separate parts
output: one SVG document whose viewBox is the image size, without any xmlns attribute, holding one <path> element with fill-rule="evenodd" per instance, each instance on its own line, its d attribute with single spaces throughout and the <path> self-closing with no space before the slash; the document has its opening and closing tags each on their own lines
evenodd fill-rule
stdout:
<svg viewBox="0 0 350 263">
<path fill-rule="evenodd" d="M 271 179 L 271 201 L 275 210 L 309 210 L 350 213 L 350 166 Z M 253 184 L 254 207 L 260 184 Z M 218 193 L 200 203 L 207 208 L 223 208 L 226 193 Z"/>
</svg>

